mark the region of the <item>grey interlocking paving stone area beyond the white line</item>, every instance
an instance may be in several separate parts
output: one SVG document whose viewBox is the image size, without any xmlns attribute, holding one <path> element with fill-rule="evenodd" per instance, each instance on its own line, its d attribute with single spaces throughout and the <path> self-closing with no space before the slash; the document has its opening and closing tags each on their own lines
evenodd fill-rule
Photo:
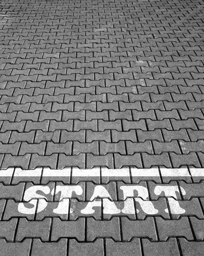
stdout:
<svg viewBox="0 0 204 256">
<path fill-rule="evenodd" d="M 203 0 L 0 12 L 1 168 L 204 167 Z"/>
</svg>

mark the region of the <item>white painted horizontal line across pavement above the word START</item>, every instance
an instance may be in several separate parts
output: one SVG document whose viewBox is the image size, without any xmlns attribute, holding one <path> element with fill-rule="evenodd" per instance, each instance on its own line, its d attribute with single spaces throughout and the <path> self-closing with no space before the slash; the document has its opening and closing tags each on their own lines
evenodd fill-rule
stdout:
<svg viewBox="0 0 204 256">
<path fill-rule="evenodd" d="M 161 168 L 163 177 L 204 177 L 204 168 L 190 168 L 190 174 L 186 168 Z M 43 172 L 43 175 L 42 175 Z M 160 177 L 158 168 L 137 169 L 130 168 L 132 177 Z M 0 170 L 0 177 L 70 177 L 71 168 L 49 169 L 36 168 L 33 170 L 22 170 L 21 168 L 8 168 Z M 129 168 L 107 169 L 101 168 L 102 177 L 129 177 Z M 79 169 L 72 168 L 72 177 L 100 177 L 100 168 Z"/>
</svg>

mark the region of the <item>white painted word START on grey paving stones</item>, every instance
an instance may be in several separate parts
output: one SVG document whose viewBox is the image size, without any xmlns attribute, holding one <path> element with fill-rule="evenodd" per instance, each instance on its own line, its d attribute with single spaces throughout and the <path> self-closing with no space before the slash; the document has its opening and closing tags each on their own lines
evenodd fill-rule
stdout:
<svg viewBox="0 0 204 256">
<path fill-rule="evenodd" d="M 135 207 L 136 203 L 140 205 L 141 209 L 149 215 L 155 215 L 158 213 L 158 209 L 155 209 L 154 202 L 149 200 L 148 189 L 144 186 L 120 186 L 123 195 L 123 209 L 118 209 L 116 201 L 112 200 L 110 193 L 104 186 L 95 186 L 92 192 L 92 197 L 86 202 L 86 207 L 80 210 L 81 214 L 92 215 L 95 212 L 95 207 L 103 206 L 103 214 L 116 215 L 123 214 L 135 214 L 135 210 L 138 213 L 139 209 Z M 185 190 L 180 187 L 180 191 L 183 195 L 186 194 Z M 137 196 L 135 196 L 135 192 Z M 77 186 L 56 186 L 55 189 L 50 189 L 49 186 L 32 186 L 26 189 L 23 197 L 24 202 L 18 204 L 18 211 L 22 214 L 35 214 L 46 209 L 48 200 L 46 195 L 57 195 L 60 193 L 60 199 L 57 208 L 53 209 L 55 214 L 68 214 L 72 213 L 74 209 L 70 207 L 70 199 L 73 198 L 73 194 L 82 195 L 83 188 Z M 177 195 L 179 193 L 178 186 L 155 186 L 155 195 L 161 195 L 167 198 L 170 212 L 172 214 L 184 214 L 185 209 L 181 208 Z M 44 195 L 42 195 L 44 194 Z M 76 197 L 74 197 L 76 198 Z M 102 201 L 102 204 L 101 204 Z M 29 204 L 29 207 L 28 207 Z M 94 209 L 93 209 L 94 208 Z M 169 209 L 164 209 L 169 213 Z"/>
</svg>

